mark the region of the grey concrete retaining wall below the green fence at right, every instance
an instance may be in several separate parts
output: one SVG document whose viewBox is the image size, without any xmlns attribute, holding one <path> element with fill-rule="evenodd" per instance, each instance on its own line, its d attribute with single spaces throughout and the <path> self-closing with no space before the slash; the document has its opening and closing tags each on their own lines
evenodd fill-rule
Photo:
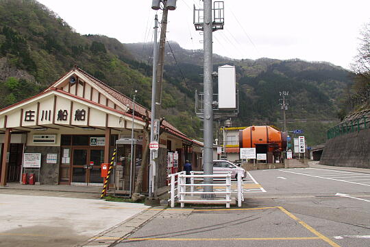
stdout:
<svg viewBox="0 0 370 247">
<path fill-rule="evenodd" d="M 370 128 L 328 140 L 320 164 L 370 168 Z"/>
</svg>

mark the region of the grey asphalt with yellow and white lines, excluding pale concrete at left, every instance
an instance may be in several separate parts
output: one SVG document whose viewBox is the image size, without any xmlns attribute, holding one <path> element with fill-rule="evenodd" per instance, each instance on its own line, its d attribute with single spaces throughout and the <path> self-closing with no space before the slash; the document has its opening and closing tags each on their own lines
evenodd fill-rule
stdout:
<svg viewBox="0 0 370 247">
<path fill-rule="evenodd" d="M 116 246 L 370 246 L 370 174 L 309 168 L 251 177 L 263 190 L 246 191 L 243 209 L 167 209 Z"/>
</svg>

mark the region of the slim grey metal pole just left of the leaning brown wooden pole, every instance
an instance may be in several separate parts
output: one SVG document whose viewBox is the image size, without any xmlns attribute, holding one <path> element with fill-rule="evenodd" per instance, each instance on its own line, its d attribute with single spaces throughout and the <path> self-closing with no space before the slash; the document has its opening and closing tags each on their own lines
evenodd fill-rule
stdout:
<svg viewBox="0 0 370 247">
<path fill-rule="evenodd" d="M 157 62 L 158 62 L 158 47 L 157 47 L 157 30 L 158 30 L 158 15 L 154 19 L 154 43 L 153 43 L 153 78 L 151 80 L 151 127 L 150 127 L 150 142 L 158 141 L 158 137 L 154 137 L 154 119 L 156 119 L 156 78 L 157 78 Z M 150 152 L 149 166 L 149 198 L 154 196 L 153 186 L 153 169 L 156 169 L 154 161 L 154 152 Z M 158 152 L 158 151 L 156 151 Z"/>
</svg>

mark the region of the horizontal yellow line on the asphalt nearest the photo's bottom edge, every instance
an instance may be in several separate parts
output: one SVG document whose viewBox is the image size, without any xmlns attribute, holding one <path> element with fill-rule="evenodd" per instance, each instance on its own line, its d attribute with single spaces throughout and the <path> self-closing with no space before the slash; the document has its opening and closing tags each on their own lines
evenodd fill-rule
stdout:
<svg viewBox="0 0 370 247">
<path fill-rule="evenodd" d="M 126 240 L 126 241 L 256 241 L 256 240 L 312 240 L 320 237 L 219 237 L 219 238 L 172 238 L 172 237 L 97 237 L 99 240 Z"/>
</svg>

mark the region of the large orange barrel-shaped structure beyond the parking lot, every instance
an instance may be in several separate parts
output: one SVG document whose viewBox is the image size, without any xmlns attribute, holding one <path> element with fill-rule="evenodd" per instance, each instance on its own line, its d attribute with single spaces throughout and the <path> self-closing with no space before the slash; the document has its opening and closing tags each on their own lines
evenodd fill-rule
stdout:
<svg viewBox="0 0 370 247">
<path fill-rule="evenodd" d="M 286 150 L 286 134 L 271 126 L 250 126 L 239 130 L 239 147 L 256 148 L 258 154 L 271 153 L 277 158 Z"/>
</svg>

